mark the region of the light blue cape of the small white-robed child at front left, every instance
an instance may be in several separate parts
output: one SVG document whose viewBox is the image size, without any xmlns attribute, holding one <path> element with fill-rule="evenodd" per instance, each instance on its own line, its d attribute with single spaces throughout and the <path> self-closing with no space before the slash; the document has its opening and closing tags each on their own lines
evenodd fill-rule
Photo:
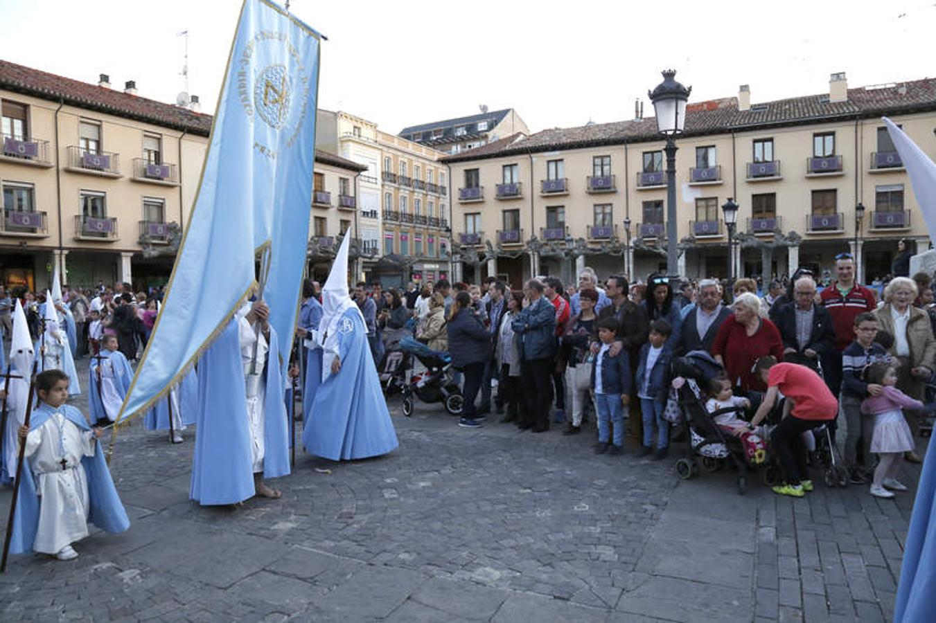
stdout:
<svg viewBox="0 0 936 623">
<path fill-rule="evenodd" d="M 29 427 L 35 429 L 45 424 L 53 413 L 62 413 L 81 430 L 91 430 L 84 421 L 81 412 L 71 405 L 64 404 L 52 409 L 47 404 L 40 404 L 30 418 Z M 30 471 L 29 461 L 22 463 L 20 478 L 20 497 L 13 515 L 13 535 L 9 545 L 12 554 L 24 554 L 33 551 L 36 530 L 39 523 L 39 497 L 36 495 L 36 478 Z M 95 456 L 81 458 L 84 475 L 88 479 L 88 502 L 91 514 L 88 520 L 98 528 L 111 533 L 123 532 L 130 527 L 124 504 L 117 495 L 113 480 L 110 478 L 108 464 L 104 460 L 104 450 L 96 444 Z"/>
</svg>

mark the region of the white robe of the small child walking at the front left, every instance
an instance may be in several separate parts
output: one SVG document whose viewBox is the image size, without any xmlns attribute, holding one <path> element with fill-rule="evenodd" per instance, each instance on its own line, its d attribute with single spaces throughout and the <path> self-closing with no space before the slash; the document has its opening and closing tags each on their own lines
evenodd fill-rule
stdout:
<svg viewBox="0 0 936 623">
<path fill-rule="evenodd" d="M 88 536 L 88 479 L 82 456 L 94 456 L 94 432 L 83 431 L 65 415 L 55 413 L 29 431 L 25 456 L 36 476 L 40 498 L 36 543 L 33 549 L 57 554 L 62 548 Z M 64 456 L 63 456 L 63 450 Z M 66 469 L 62 469 L 62 459 Z"/>
</svg>

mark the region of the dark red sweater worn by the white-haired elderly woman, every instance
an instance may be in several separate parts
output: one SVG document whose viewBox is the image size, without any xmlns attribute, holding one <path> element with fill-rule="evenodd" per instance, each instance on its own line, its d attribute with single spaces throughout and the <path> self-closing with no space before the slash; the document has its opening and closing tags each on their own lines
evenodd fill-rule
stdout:
<svg viewBox="0 0 936 623">
<path fill-rule="evenodd" d="M 735 320 L 735 314 L 731 314 L 718 329 L 711 344 L 711 354 L 722 355 L 724 369 L 728 371 L 732 384 L 740 379 L 742 389 L 763 392 L 767 391 L 767 385 L 753 373 L 754 363 L 765 355 L 773 355 L 777 361 L 782 361 L 783 340 L 777 327 L 766 318 L 761 319 L 761 326 L 748 337 L 744 325 Z"/>
</svg>

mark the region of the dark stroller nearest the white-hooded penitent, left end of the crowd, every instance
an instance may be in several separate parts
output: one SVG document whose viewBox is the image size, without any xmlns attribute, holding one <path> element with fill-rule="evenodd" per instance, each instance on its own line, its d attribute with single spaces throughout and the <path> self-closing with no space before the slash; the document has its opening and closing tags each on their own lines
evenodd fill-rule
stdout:
<svg viewBox="0 0 936 623">
<path fill-rule="evenodd" d="M 408 362 L 416 357 L 426 367 L 418 374 L 410 376 L 409 366 L 402 369 L 402 395 L 403 415 L 409 417 L 413 414 L 413 398 L 423 402 L 441 402 L 446 412 L 451 415 L 461 415 L 463 398 L 461 388 L 452 381 L 452 358 L 447 353 L 433 351 L 426 344 L 413 338 L 403 338 L 398 347 L 406 355 Z"/>
</svg>

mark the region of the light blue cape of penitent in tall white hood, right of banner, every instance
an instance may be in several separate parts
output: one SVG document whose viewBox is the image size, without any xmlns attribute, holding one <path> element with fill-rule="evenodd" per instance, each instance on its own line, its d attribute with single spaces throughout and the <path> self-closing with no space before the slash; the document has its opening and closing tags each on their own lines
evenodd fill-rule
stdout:
<svg viewBox="0 0 936 623">
<path fill-rule="evenodd" d="M 302 444 L 309 454 L 331 460 L 386 455 L 400 442 L 373 364 L 367 327 L 356 308 L 344 312 L 340 326 L 338 374 L 329 374 L 324 382 L 320 374 L 313 378 L 310 356 L 306 391 L 314 395 L 309 397 L 312 406 L 305 415 Z M 316 351 L 322 353 L 312 353 Z"/>
</svg>

